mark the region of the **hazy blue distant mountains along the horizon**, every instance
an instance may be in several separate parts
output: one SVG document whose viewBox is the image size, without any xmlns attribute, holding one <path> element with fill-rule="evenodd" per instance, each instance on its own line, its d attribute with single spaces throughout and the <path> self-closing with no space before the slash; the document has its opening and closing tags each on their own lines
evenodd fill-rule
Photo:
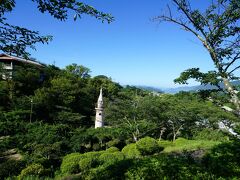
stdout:
<svg viewBox="0 0 240 180">
<path fill-rule="evenodd" d="M 234 81 L 232 82 L 234 86 L 240 85 L 240 81 Z M 223 87 L 223 83 L 220 84 L 221 87 Z M 216 86 L 212 86 L 210 84 L 208 85 L 199 85 L 199 86 L 184 86 L 184 87 L 177 87 L 177 88 L 158 88 L 158 87 L 152 87 L 152 86 L 136 86 L 140 89 L 159 92 L 159 93 L 169 93 L 169 94 L 175 94 L 180 91 L 199 91 L 199 90 L 208 90 L 208 89 L 217 89 Z"/>
</svg>

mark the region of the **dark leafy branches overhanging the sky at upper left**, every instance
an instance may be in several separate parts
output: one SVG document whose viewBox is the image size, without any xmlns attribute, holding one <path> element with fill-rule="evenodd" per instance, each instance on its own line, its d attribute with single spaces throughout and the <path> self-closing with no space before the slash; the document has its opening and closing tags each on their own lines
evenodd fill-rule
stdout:
<svg viewBox="0 0 240 180">
<path fill-rule="evenodd" d="M 32 0 L 37 4 L 40 12 L 48 12 L 51 16 L 61 21 L 65 21 L 74 13 L 74 20 L 87 14 L 102 22 L 113 21 L 110 14 L 100 12 L 83 2 L 77 0 Z M 27 3 L 27 2 L 24 2 Z M 7 23 L 6 13 L 10 13 L 15 8 L 15 0 L 0 1 L 0 51 L 27 58 L 30 54 L 27 48 L 35 49 L 36 43 L 48 43 L 52 36 L 41 36 L 38 31 L 32 31 L 23 27 Z"/>
</svg>

